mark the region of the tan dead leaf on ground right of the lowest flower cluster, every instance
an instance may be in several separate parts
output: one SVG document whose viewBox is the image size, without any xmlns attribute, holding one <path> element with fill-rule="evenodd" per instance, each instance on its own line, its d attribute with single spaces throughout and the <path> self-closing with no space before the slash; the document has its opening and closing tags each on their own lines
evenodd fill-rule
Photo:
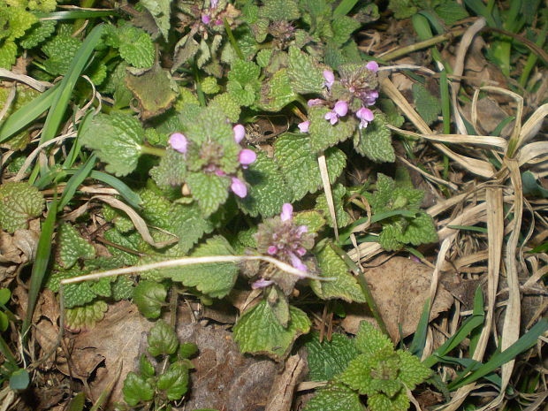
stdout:
<svg viewBox="0 0 548 411">
<path fill-rule="evenodd" d="M 424 302 L 430 295 L 431 275 L 432 269 L 428 266 L 404 257 L 393 257 L 386 263 L 365 271 L 373 299 L 377 302 L 394 342 L 400 340 L 400 325 L 403 337 L 415 332 Z M 430 321 L 452 305 L 451 293 L 443 285 L 438 285 L 436 300 L 430 311 Z M 363 312 L 362 305 L 353 305 L 342 326 L 346 331 L 355 334 L 360 322 L 368 319 L 370 315 Z"/>
</svg>

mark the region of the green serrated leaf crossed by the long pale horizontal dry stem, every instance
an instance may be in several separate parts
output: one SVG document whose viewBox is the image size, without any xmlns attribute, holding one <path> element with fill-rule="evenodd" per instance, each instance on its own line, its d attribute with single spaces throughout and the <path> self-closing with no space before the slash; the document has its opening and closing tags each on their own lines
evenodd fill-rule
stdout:
<svg viewBox="0 0 548 411">
<path fill-rule="evenodd" d="M 224 237 L 215 236 L 191 254 L 193 257 L 209 255 L 234 255 L 234 251 Z M 173 281 L 196 287 L 210 297 L 222 298 L 232 290 L 238 278 L 238 267 L 234 263 L 207 263 L 179 267 L 171 273 Z"/>
</svg>

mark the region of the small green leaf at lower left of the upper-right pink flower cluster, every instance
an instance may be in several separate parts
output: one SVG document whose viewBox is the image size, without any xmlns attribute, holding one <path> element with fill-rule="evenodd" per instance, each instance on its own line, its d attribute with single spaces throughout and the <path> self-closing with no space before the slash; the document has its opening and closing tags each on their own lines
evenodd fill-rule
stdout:
<svg viewBox="0 0 548 411">
<path fill-rule="evenodd" d="M 330 110 L 326 107 L 312 107 L 308 111 L 310 126 L 310 147 L 316 153 L 321 153 L 323 150 L 334 146 L 339 141 L 345 141 L 353 133 L 357 125 L 357 120 L 354 116 L 345 116 L 339 118 L 335 125 L 325 119 L 325 114 Z"/>
</svg>

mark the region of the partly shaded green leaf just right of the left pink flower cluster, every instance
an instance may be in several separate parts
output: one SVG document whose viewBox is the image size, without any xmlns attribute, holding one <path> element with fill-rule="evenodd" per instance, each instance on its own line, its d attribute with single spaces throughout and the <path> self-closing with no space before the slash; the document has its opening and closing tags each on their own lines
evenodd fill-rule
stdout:
<svg viewBox="0 0 548 411">
<path fill-rule="evenodd" d="M 285 184 L 278 164 L 263 151 L 257 152 L 255 163 L 244 170 L 244 176 L 249 189 L 245 198 L 238 199 L 238 204 L 250 216 L 272 217 L 285 202 L 291 202 L 293 192 Z"/>
</svg>

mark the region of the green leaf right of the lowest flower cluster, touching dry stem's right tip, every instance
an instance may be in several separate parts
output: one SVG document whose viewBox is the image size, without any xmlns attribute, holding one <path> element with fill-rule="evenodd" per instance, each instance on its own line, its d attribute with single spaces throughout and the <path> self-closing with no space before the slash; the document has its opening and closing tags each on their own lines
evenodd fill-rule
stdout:
<svg viewBox="0 0 548 411">
<path fill-rule="evenodd" d="M 315 250 L 315 254 L 321 270 L 320 277 L 335 278 L 334 281 L 310 280 L 310 288 L 318 297 L 322 300 L 340 298 L 348 302 L 365 302 L 362 287 L 329 243 Z"/>
</svg>

